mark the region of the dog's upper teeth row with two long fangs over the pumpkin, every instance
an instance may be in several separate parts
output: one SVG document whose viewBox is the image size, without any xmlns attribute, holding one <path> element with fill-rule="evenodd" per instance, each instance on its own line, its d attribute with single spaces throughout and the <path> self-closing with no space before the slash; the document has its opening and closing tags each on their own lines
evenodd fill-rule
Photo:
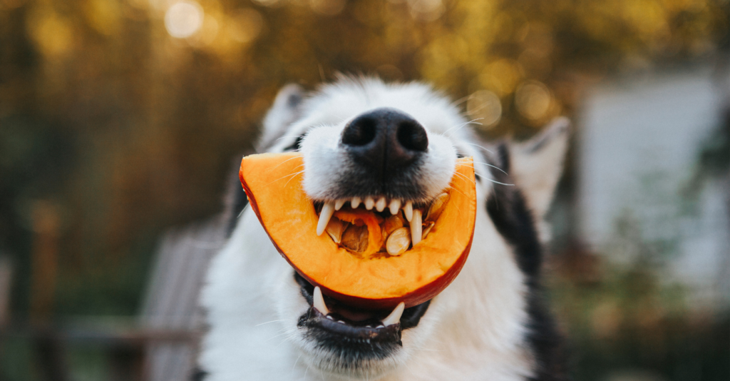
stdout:
<svg viewBox="0 0 730 381">
<path fill-rule="evenodd" d="M 322 235 L 322 233 L 324 233 L 324 230 L 329 223 L 329 219 L 332 218 L 332 214 L 334 214 L 334 211 L 339 211 L 339 209 L 342 208 L 342 206 L 345 205 L 347 201 L 350 201 L 350 205 L 352 205 L 353 208 L 357 208 L 360 203 L 363 203 L 363 200 L 361 200 L 360 197 L 353 197 L 351 200 L 340 199 L 337 201 L 328 201 L 324 203 L 324 205 L 322 205 L 322 211 L 320 212 L 319 222 L 317 223 L 317 235 Z M 408 220 L 408 222 L 411 222 L 411 234 L 413 244 L 415 245 L 420 242 L 420 211 L 418 209 L 416 209 L 415 211 L 413 210 L 412 201 L 406 201 L 405 203 L 401 203 L 401 200 L 394 198 L 393 200 L 391 200 L 390 203 L 388 203 L 388 200 L 386 200 L 385 197 L 380 197 L 376 201 L 372 196 L 368 196 L 365 197 L 364 205 L 367 210 L 372 210 L 374 206 L 377 211 L 384 211 L 385 205 L 388 205 L 388 209 L 391 211 L 391 214 L 397 214 L 398 211 L 402 208 L 404 214 L 406 215 L 406 219 Z M 414 217 L 416 221 L 413 221 Z"/>
</svg>

